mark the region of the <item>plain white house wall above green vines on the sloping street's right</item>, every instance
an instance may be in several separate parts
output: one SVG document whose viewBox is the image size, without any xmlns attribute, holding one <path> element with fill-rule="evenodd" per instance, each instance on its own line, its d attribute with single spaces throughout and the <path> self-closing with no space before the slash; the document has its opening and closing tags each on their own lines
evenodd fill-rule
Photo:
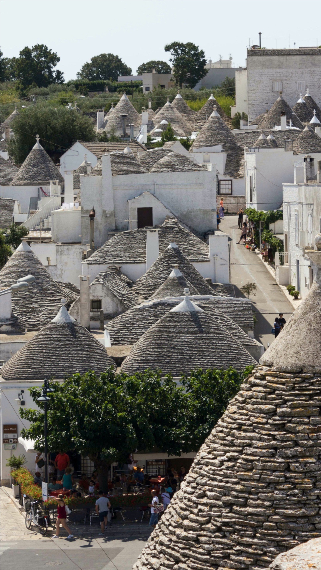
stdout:
<svg viewBox="0 0 321 570">
<path fill-rule="evenodd" d="M 306 154 L 294 155 L 284 148 L 245 149 L 246 207 L 276 210 L 283 201 L 283 182 L 293 182 L 293 161 Z M 320 153 L 309 156 L 320 160 Z"/>
</svg>

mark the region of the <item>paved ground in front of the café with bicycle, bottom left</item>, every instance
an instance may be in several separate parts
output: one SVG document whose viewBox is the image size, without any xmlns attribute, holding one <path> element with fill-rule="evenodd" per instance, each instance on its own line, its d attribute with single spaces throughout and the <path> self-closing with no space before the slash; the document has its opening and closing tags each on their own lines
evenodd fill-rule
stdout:
<svg viewBox="0 0 321 570">
<path fill-rule="evenodd" d="M 54 529 L 41 536 L 31 527 L 28 531 L 23 516 L 1 489 L 1 564 L 5 570 L 47 570 L 61 566 L 62 570 L 131 570 L 149 538 L 151 527 L 121 524 L 112 526 L 106 536 L 98 536 L 97 524 L 79 527 L 71 525 L 75 538 L 53 540 Z M 138 520 L 141 514 L 138 512 Z M 76 529 L 76 531 L 74 530 Z"/>
</svg>

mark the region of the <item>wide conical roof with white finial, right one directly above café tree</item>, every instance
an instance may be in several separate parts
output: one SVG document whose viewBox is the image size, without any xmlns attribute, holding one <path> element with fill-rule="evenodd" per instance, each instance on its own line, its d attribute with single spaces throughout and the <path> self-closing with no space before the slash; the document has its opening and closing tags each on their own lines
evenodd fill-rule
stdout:
<svg viewBox="0 0 321 570">
<path fill-rule="evenodd" d="M 153 368 L 180 376 L 197 368 L 240 371 L 251 364 L 255 360 L 246 349 L 186 296 L 134 344 L 121 369 L 134 374 Z"/>
</svg>

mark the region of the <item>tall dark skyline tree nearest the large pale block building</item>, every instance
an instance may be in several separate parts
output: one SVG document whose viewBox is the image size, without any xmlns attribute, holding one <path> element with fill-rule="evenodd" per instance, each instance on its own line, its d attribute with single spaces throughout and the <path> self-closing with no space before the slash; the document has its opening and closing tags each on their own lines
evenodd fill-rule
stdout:
<svg viewBox="0 0 321 570">
<path fill-rule="evenodd" d="M 164 50 L 171 54 L 170 62 L 174 66 L 174 77 L 179 87 L 184 84 L 193 88 L 207 75 L 205 53 L 194 43 L 172 42 L 168 43 Z"/>
</svg>

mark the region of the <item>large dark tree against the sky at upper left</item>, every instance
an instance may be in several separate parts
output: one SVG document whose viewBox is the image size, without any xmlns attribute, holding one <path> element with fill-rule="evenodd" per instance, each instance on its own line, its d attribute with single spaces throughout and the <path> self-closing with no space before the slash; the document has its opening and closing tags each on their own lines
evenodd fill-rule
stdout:
<svg viewBox="0 0 321 570">
<path fill-rule="evenodd" d="M 33 85 L 47 87 L 51 83 L 63 83 L 62 71 L 54 71 L 59 61 L 58 55 L 44 44 L 26 46 L 14 60 L 14 78 L 23 91 Z"/>
</svg>

